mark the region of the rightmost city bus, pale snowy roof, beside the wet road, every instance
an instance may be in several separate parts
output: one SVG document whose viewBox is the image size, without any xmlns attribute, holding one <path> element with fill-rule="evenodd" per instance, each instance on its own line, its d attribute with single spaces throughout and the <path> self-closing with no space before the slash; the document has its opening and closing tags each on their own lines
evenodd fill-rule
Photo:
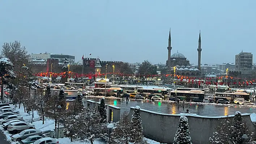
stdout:
<svg viewBox="0 0 256 144">
<path fill-rule="evenodd" d="M 230 101 L 234 101 L 235 99 L 243 99 L 246 101 L 250 100 L 250 95 L 246 92 L 234 92 L 234 93 L 216 92 L 214 95 L 214 99 L 215 97 L 223 97 Z"/>
</svg>

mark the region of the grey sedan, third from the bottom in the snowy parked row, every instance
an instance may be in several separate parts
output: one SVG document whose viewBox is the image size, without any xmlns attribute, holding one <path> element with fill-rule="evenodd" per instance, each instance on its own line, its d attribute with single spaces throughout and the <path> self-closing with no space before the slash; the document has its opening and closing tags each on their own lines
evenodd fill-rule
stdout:
<svg viewBox="0 0 256 144">
<path fill-rule="evenodd" d="M 24 130 L 18 134 L 12 135 L 12 141 L 21 141 L 23 139 L 26 139 L 29 136 L 33 136 L 33 135 L 43 135 L 41 130 L 37 130 L 37 129 L 28 129 L 28 130 Z"/>
</svg>

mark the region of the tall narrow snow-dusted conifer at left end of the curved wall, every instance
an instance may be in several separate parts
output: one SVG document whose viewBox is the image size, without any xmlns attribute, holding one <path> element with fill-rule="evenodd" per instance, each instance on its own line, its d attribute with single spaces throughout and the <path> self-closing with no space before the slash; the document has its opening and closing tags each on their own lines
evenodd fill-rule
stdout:
<svg viewBox="0 0 256 144">
<path fill-rule="evenodd" d="M 136 106 L 132 113 L 132 140 L 142 141 L 143 140 L 143 127 L 140 117 L 140 106 Z"/>
</svg>

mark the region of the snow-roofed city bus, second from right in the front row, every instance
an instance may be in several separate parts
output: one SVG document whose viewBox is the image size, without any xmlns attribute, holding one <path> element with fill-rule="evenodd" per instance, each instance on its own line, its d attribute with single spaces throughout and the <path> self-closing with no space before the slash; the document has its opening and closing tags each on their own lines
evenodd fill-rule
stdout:
<svg viewBox="0 0 256 144">
<path fill-rule="evenodd" d="M 204 102 L 204 92 L 201 90 L 190 90 L 190 91 L 171 91 L 170 97 L 174 97 L 177 93 L 177 99 L 192 101 L 193 99 L 199 99 L 200 102 Z"/>
</svg>

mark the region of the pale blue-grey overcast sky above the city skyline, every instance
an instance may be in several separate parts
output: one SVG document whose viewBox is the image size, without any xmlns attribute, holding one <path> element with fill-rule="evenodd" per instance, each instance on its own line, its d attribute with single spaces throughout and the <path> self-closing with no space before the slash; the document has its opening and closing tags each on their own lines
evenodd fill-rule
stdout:
<svg viewBox="0 0 256 144">
<path fill-rule="evenodd" d="M 63 53 L 154 64 L 172 51 L 197 64 L 234 62 L 255 53 L 256 0 L 1 0 L 0 43 L 20 40 L 29 53 Z M 254 58 L 255 59 L 255 58 Z"/>
</svg>

